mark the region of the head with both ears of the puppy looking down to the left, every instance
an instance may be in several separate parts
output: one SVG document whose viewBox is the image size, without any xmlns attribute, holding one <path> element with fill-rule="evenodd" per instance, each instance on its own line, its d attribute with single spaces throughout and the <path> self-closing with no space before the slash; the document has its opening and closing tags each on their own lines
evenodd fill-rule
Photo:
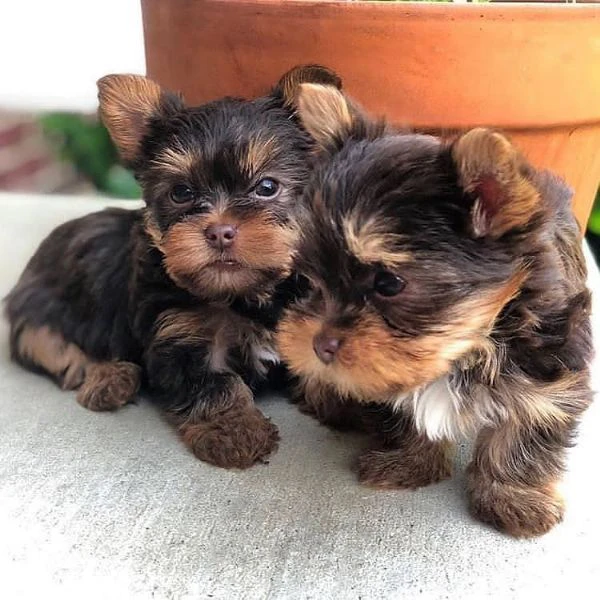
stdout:
<svg viewBox="0 0 600 600">
<path fill-rule="evenodd" d="M 452 145 L 385 133 L 318 86 L 299 106 L 322 166 L 297 259 L 311 289 L 278 333 L 292 371 L 382 400 L 488 351 L 527 277 L 519 240 L 542 210 L 514 148 L 487 130 Z"/>
</svg>

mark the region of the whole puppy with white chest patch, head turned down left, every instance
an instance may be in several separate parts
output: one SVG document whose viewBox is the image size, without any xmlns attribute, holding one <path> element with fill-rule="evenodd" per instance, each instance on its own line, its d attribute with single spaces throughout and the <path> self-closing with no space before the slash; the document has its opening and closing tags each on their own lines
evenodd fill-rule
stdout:
<svg viewBox="0 0 600 600">
<path fill-rule="evenodd" d="M 321 148 L 297 259 L 311 286 L 277 341 L 304 409 L 377 435 L 359 459 L 374 486 L 449 477 L 452 442 L 477 433 L 472 513 L 514 536 L 548 531 L 592 398 L 570 191 L 493 131 L 401 135 L 312 84 L 298 112 Z"/>
</svg>

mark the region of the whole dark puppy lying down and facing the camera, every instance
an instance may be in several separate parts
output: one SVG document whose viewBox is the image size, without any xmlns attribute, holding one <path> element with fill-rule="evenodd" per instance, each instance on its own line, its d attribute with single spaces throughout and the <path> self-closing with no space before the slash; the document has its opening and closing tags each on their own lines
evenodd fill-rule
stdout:
<svg viewBox="0 0 600 600">
<path fill-rule="evenodd" d="M 140 76 L 98 82 L 100 115 L 139 179 L 140 210 L 107 209 L 44 240 L 7 298 L 10 346 L 91 410 L 147 385 L 194 454 L 246 468 L 277 448 L 253 390 L 277 361 L 311 140 L 293 117 L 309 65 L 254 101 L 187 107 Z"/>
</svg>

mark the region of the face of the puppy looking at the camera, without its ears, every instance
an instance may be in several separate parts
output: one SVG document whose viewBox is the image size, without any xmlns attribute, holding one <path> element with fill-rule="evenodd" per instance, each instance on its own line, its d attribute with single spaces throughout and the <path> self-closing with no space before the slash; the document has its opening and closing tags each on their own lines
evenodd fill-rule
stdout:
<svg viewBox="0 0 600 600">
<path fill-rule="evenodd" d="M 242 295 L 290 270 L 307 141 L 269 101 L 224 100 L 160 123 L 139 169 L 147 228 L 172 279 Z"/>
</svg>

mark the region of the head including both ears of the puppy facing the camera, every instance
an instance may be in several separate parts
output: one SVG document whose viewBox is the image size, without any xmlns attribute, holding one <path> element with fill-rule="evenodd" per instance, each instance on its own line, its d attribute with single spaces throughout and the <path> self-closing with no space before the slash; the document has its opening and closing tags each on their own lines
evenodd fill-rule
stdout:
<svg viewBox="0 0 600 600">
<path fill-rule="evenodd" d="M 181 287 L 255 294 L 289 274 L 310 150 L 291 107 L 307 80 L 339 85 L 300 67 L 271 96 L 188 108 L 145 78 L 99 82 L 103 120 L 144 190 L 147 232 Z"/>
</svg>

